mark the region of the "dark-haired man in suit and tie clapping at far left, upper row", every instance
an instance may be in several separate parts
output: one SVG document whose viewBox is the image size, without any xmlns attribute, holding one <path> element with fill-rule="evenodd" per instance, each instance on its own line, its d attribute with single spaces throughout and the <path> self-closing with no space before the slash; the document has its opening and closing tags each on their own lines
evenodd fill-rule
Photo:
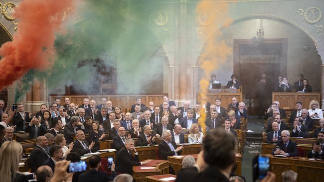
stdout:
<svg viewBox="0 0 324 182">
<path fill-rule="evenodd" d="M 23 104 L 19 103 L 17 105 L 17 112 L 14 114 L 12 118 L 12 125 L 16 125 L 16 131 L 23 131 L 25 124 L 30 122 L 31 113 L 25 112 L 23 108 Z"/>
</svg>

